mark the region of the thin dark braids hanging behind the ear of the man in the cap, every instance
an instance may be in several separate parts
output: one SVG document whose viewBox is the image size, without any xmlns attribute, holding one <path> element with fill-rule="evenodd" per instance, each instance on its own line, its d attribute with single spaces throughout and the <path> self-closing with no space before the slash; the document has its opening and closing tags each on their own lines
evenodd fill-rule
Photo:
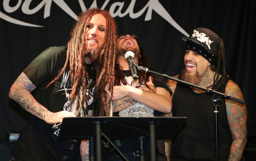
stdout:
<svg viewBox="0 0 256 161">
<path fill-rule="evenodd" d="M 222 39 L 219 40 L 219 51 L 218 51 L 218 59 L 216 59 L 215 63 L 211 64 L 211 70 L 215 71 L 213 84 L 209 87 L 212 87 L 214 90 L 219 90 L 224 84 L 225 77 L 227 76 L 225 70 L 225 47 Z M 221 76 L 220 80 L 219 77 Z M 220 83 L 217 84 L 218 80 Z"/>
</svg>

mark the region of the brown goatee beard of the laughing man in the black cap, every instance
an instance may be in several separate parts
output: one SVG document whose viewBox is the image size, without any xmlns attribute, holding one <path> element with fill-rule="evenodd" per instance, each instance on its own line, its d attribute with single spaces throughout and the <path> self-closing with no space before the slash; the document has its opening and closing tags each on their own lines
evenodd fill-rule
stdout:
<svg viewBox="0 0 256 161">
<path fill-rule="evenodd" d="M 192 83 L 197 86 L 202 80 L 201 76 L 197 71 L 196 71 L 196 74 L 191 74 L 187 72 L 186 68 L 181 71 L 180 78 L 185 82 Z"/>
</svg>

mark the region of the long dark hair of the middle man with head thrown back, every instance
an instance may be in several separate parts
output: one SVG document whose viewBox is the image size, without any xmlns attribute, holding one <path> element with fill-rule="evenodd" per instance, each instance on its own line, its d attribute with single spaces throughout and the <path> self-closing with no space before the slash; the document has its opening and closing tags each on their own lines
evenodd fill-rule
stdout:
<svg viewBox="0 0 256 161">
<path fill-rule="evenodd" d="M 146 55 L 144 54 L 143 49 L 141 47 L 139 47 L 139 49 L 140 49 L 140 51 L 139 51 L 140 56 L 138 58 L 138 65 L 146 67 L 146 68 L 150 68 L 148 59 L 147 59 Z M 138 71 L 139 82 L 138 82 L 137 87 L 140 87 L 141 85 L 144 85 L 144 86 L 146 86 L 147 88 L 150 89 L 150 87 L 147 86 L 147 82 L 148 82 L 150 76 L 151 76 L 150 73 L 142 72 L 142 71 L 139 70 Z M 125 80 L 125 76 L 122 74 L 121 66 L 120 66 L 117 58 L 116 58 L 116 63 L 115 63 L 115 77 L 116 77 L 115 83 L 114 83 L 115 86 L 120 86 L 121 83 L 123 83 L 124 85 L 127 85 L 127 81 Z M 134 81 L 135 80 L 133 80 L 132 83 Z"/>
</svg>

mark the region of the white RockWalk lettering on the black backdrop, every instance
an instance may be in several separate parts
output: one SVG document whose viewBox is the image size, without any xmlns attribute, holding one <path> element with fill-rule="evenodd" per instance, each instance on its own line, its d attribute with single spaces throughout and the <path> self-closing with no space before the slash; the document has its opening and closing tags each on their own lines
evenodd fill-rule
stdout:
<svg viewBox="0 0 256 161">
<path fill-rule="evenodd" d="M 12 13 L 18 10 L 21 7 L 21 11 L 25 13 L 26 15 L 32 15 L 36 12 L 38 12 L 41 8 L 44 7 L 44 19 L 46 17 L 50 16 L 50 8 L 52 5 L 52 2 L 56 3 L 63 11 L 65 11 L 69 16 L 74 18 L 75 20 L 78 19 L 78 16 L 72 11 L 71 8 L 65 3 L 64 0 L 42 0 L 35 8 L 30 9 L 30 3 L 32 0 L 25 0 L 22 4 L 22 0 L 18 0 L 17 4 L 13 7 L 9 5 L 11 0 L 3 0 L 3 8 L 5 12 Z M 105 9 L 106 5 L 108 5 L 110 0 L 105 0 L 103 3 L 101 9 Z M 79 5 L 81 7 L 82 11 L 86 11 L 86 6 L 83 2 L 83 0 L 78 0 Z M 124 13 L 121 13 L 124 3 L 123 2 L 114 2 L 110 8 L 109 8 L 109 13 L 113 16 L 119 16 L 119 17 L 124 17 L 129 14 L 129 16 L 132 19 L 136 19 L 143 15 L 145 11 L 147 11 L 146 16 L 145 16 L 145 21 L 149 21 L 152 18 L 152 11 L 154 10 L 158 15 L 163 17 L 166 21 L 168 21 L 171 25 L 173 25 L 174 28 L 176 28 L 178 31 L 180 31 L 182 34 L 185 36 L 189 36 L 189 34 L 183 30 L 180 25 L 178 25 L 173 18 L 169 15 L 169 13 L 166 11 L 166 9 L 162 6 L 162 4 L 158 0 L 148 0 L 148 3 L 137 13 L 133 13 L 133 8 L 135 6 L 136 0 L 131 0 L 131 3 L 129 4 L 128 8 Z M 97 0 L 94 0 L 93 3 L 91 4 L 91 7 L 89 8 L 95 8 L 97 6 Z M 88 7 L 87 7 L 88 8 Z M 99 7 L 98 7 L 99 8 Z M 24 26 L 30 26 L 30 27 L 44 27 L 41 25 L 36 25 L 36 24 L 31 24 L 27 23 L 24 21 L 17 20 L 13 17 L 10 17 L 3 12 L 0 11 L 0 18 L 4 19 L 10 23 L 18 24 L 18 25 L 24 25 Z"/>
</svg>

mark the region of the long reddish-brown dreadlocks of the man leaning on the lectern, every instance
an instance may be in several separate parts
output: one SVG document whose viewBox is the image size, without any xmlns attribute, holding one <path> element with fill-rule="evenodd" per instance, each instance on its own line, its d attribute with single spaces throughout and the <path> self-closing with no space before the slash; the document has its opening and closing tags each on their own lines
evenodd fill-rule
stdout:
<svg viewBox="0 0 256 161">
<path fill-rule="evenodd" d="M 109 116 L 110 102 L 112 101 L 112 90 L 114 82 L 114 61 L 115 61 L 115 46 L 117 41 L 117 27 L 116 22 L 110 13 L 99 8 L 90 9 L 82 12 L 77 23 L 71 32 L 71 39 L 68 42 L 67 58 L 64 67 L 60 74 L 50 82 L 46 88 L 52 85 L 64 71 L 69 68 L 70 80 L 72 85 L 72 92 L 69 94 L 71 108 L 74 102 L 73 113 L 78 116 L 82 106 L 85 106 L 85 114 L 88 114 L 88 104 L 86 91 L 90 91 L 89 78 L 87 75 L 86 65 L 83 58 L 84 51 L 86 51 L 86 28 L 95 14 L 102 14 L 106 19 L 105 39 L 100 51 L 99 58 L 94 61 L 95 72 L 97 74 L 95 89 L 94 89 L 94 116 Z M 84 108 L 83 108 L 84 109 Z"/>
</svg>

